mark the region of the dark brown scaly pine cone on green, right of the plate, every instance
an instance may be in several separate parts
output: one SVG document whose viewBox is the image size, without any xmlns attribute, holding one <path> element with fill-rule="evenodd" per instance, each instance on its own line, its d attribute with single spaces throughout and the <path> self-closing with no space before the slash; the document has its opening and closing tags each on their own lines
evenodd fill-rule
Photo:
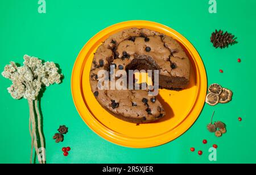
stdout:
<svg viewBox="0 0 256 175">
<path fill-rule="evenodd" d="M 225 34 L 223 34 L 224 32 L 222 30 L 215 30 L 215 32 L 212 33 L 212 36 L 210 37 L 210 41 L 213 43 L 213 46 L 215 48 L 220 47 L 225 48 L 228 47 L 229 45 L 233 45 L 236 44 L 236 38 L 234 38 L 234 35 L 225 32 Z"/>
</svg>

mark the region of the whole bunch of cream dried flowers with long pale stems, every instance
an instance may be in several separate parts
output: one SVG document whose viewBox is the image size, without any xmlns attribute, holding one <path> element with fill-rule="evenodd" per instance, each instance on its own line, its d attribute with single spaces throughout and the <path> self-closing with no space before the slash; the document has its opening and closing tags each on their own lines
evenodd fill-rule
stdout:
<svg viewBox="0 0 256 175">
<path fill-rule="evenodd" d="M 11 61 L 5 66 L 2 76 L 8 78 L 13 84 L 7 88 L 14 99 L 25 98 L 30 109 L 30 135 L 31 135 L 31 157 L 35 147 L 36 155 L 40 164 L 46 163 L 40 155 L 46 157 L 44 137 L 42 133 L 41 116 L 38 108 L 38 95 L 43 86 L 60 84 L 62 74 L 54 62 L 43 62 L 36 57 L 24 56 L 22 66 L 17 66 Z M 37 119 L 37 121 L 36 121 Z M 37 138 L 39 134 L 39 139 Z M 40 143 L 40 149 L 39 149 Z"/>
</svg>

